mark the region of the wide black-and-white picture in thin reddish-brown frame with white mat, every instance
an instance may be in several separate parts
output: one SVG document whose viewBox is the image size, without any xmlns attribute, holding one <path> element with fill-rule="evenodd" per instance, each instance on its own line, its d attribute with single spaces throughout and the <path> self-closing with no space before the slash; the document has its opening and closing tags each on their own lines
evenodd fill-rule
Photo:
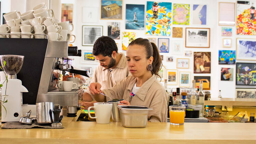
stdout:
<svg viewBox="0 0 256 144">
<path fill-rule="evenodd" d="M 210 47 L 210 28 L 186 28 L 186 47 Z"/>
</svg>

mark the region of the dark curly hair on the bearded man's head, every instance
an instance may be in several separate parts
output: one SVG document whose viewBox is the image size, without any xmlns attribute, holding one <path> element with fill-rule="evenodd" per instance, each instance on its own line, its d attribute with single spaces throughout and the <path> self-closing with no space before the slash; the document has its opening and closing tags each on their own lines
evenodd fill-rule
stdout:
<svg viewBox="0 0 256 144">
<path fill-rule="evenodd" d="M 99 54 L 111 57 L 112 52 L 116 51 L 117 53 L 116 42 L 106 36 L 99 37 L 93 45 L 93 55 L 98 56 Z"/>
</svg>

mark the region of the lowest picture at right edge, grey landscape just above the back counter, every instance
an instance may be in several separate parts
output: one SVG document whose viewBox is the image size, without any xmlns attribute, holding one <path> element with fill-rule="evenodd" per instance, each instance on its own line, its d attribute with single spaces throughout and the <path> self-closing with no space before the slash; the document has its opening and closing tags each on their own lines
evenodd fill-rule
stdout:
<svg viewBox="0 0 256 144">
<path fill-rule="evenodd" d="M 236 98 L 256 98 L 256 89 L 236 88 Z"/>
</svg>

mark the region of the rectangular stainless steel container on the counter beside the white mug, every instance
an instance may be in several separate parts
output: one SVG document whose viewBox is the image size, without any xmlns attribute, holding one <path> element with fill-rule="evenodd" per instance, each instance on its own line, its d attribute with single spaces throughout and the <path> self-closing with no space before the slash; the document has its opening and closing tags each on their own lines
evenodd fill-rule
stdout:
<svg viewBox="0 0 256 144">
<path fill-rule="evenodd" d="M 147 126 L 147 115 L 150 110 L 146 106 L 118 105 L 120 109 L 121 124 L 127 128 L 145 128 Z"/>
</svg>

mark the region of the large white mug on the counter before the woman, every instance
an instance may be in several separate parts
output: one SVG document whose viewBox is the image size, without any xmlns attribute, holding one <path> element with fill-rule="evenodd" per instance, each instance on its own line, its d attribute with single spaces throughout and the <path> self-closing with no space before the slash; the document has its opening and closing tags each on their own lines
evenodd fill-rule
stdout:
<svg viewBox="0 0 256 144">
<path fill-rule="evenodd" d="M 97 102 L 94 103 L 94 106 L 88 107 L 88 115 L 90 118 L 96 118 L 96 123 L 98 124 L 109 124 L 111 112 L 112 112 L 112 103 Z M 90 115 L 90 109 L 94 108 L 95 117 Z"/>
</svg>

